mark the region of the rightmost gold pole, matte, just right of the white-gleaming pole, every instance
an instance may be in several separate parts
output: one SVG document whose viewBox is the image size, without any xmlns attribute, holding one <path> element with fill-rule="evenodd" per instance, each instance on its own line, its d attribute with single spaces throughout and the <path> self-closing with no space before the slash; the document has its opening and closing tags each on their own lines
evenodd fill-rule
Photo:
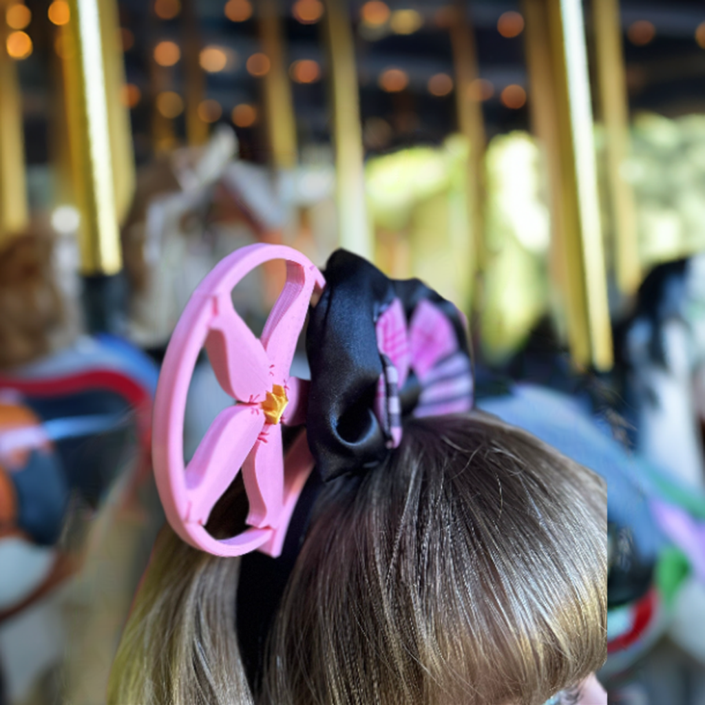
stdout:
<svg viewBox="0 0 705 705">
<path fill-rule="evenodd" d="M 615 274 L 620 290 L 631 295 L 641 283 L 642 271 L 634 192 L 623 176 L 623 167 L 630 152 L 630 135 L 619 0 L 593 0 L 592 16 L 601 118 L 607 147 Z"/>
</svg>

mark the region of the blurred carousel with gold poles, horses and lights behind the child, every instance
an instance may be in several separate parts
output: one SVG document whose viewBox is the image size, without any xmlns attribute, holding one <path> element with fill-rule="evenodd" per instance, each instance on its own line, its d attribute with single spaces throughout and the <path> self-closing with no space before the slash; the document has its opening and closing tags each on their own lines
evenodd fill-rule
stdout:
<svg viewBox="0 0 705 705">
<path fill-rule="evenodd" d="M 159 366 L 255 242 L 458 304 L 479 405 L 607 479 L 611 701 L 705 705 L 705 5 L 677 0 L 0 0 L 0 703 L 104 701 L 163 521 Z M 187 459 L 232 403 L 202 355 Z"/>
</svg>

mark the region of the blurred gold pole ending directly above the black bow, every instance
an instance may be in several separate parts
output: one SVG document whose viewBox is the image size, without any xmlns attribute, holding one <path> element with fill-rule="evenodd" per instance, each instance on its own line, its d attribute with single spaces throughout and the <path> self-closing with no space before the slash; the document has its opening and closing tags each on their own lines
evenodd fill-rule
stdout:
<svg viewBox="0 0 705 705">
<path fill-rule="evenodd" d="M 348 4 L 345 0 L 325 0 L 324 6 L 336 145 L 338 233 L 341 247 L 372 259 L 374 248 L 364 194 L 360 97 Z"/>
</svg>

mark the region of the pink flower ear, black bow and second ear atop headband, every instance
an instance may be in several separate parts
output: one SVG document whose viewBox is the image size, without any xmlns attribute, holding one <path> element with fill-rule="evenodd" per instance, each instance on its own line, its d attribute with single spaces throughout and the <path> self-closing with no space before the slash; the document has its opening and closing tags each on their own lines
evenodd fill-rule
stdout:
<svg viewBox="0 0 705 705">
<path fill-rule="evenodd" d="M 286 283 L 256 338 L 231 292 L 256 266 L 286 261 Z M 311 381 L 290 375 L 314 291 L 306 347 Z M 205 347 L 221 387 L 235 400 L 184 464 L 190 377 Z M 166 517 L 185 541 L 216 556 L 281 554 L 314 467 L 327 482 L 386 462 L 402 420 L 472 407 L 462 314 L 416 279 L 395 281 L 338 250 L 325 277 L 300 252 L 250 245 L 221 260 L 197 287 L 164 356 L 154 403 L 154 474 Z M 282 424 L 305 424 L 283 455 Z M 215 539 L 205 525 L 242 469 L 249 528 Z"/>
</svg>

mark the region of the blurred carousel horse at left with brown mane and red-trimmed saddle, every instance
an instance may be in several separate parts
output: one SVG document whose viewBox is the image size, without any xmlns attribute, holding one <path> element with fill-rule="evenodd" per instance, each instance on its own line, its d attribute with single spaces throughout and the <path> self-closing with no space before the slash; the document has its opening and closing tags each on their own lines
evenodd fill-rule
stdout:
<svg viewBox="0 0 705 705">
<path fill-rule="evenodd" d="M 116 484 L 123 498 L 140 491 L 151 466 L 157 366 L 111 336 L 52 349 L 65 309 L 52 244 L 29 233 L 0 250 L 0 680 L 11 699 L 64 648 L 49 630 L 37 649 L 23 620 L 56 616 L 47 604 L 80 570 L 88 522 Z"/>
</svg>

